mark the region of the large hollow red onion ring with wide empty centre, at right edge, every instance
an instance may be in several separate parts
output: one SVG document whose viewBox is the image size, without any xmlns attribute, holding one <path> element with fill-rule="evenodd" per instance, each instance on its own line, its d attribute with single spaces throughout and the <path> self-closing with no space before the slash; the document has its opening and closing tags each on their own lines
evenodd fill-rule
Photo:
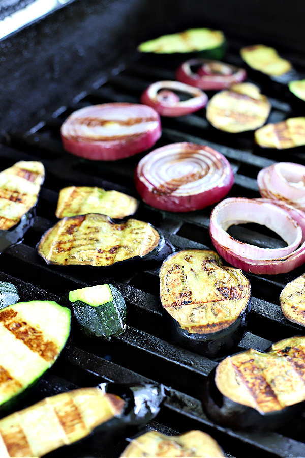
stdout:
<svg viewBox="0 0 305 458">
<path fill-rule="evenodd" d="M 258 248 L 242 243 L 226 232 L 232 224 L 250 221 L 269 227 L 288 246 Z M 211 213 L 209 232 L 218 253 L 228 263 L 246 272 L 274 275 L 290 272 L 305 262 L 305 213 L 281 201 L 242 197 L 225 199 Z M 297 248 L 299 243 L 301 246 Z"/>
</svg>

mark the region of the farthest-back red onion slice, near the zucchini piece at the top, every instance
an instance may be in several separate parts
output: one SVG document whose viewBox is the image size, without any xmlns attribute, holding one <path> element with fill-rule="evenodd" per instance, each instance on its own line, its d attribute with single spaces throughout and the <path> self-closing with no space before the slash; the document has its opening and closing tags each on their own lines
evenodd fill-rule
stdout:
<svg viewBox="0 0 305 458">
<path fill-rule="evenodd" d="M 192 67 L 198 66 L 199 69 L 193 72 Z M 190 59 L 176 70 L 178 81 L 205 91 L 227 89 L 232 84 L 245 81 L 246 78 L 247 72 L 243 68 L 205 59 Z"/>
</svg>

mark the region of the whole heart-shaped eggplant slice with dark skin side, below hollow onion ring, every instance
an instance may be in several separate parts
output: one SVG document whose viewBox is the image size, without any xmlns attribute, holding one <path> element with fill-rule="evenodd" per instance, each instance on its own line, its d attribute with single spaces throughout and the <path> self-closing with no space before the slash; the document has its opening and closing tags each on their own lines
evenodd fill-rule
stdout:
<svg viewBox="0 0 305 458">
<path fill-rule="evenodd" d="M 160 298 L 172 339 L 210 358 L 227 355 L 245 332 L 251 287 L 210 250 L 183 250 L 160 269 Z"/>
</svg>

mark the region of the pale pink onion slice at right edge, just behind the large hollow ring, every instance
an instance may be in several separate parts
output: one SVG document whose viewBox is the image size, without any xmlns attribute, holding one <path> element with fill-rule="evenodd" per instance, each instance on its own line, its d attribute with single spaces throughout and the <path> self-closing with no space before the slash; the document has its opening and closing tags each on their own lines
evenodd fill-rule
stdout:
<svg viewBox="0 0 305 458">
<path fill-rule="evenodd" d="M 257 176 L 262 197 L 280 199 L 305 210 L 305 166 L 293 162 L 278 162 L 263 168 Z"/>
</svg>

